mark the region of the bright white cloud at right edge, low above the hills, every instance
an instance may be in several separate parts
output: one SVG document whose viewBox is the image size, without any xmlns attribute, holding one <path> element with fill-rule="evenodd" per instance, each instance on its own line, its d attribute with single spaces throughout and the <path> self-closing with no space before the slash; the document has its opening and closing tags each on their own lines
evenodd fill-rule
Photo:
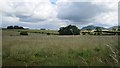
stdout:
<svg viewBox="0 0 120 68">
<path fill-rule="evenodd" d="M 118 13 L 117 12 L 108 12 L 107 14 L 103 13 L 99 16 L 96 16 L 95 22 L 98 22 L 95 23 L 96 25 L 101 24 L 102 26 L 106 25 L 107 27 L 118 25 Z"/>
</svg>

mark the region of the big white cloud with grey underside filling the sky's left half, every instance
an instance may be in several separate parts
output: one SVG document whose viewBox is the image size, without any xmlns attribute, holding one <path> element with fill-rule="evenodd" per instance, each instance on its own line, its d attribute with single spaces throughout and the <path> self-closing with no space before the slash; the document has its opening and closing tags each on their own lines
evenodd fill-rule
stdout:
<svg viewBox="0 0 120 68">
<path fill-rule="evenodd" d="M 0 1 L 2 26 L 30 26 L 48 24 L 46 21 L 56 17 L 55 8 L 49 0 L 4 0 Z M 54 23 L 54 22 L 52 22 Z M 27 24 L 27 25 L 26 25 Z M 36 28 L 34 26 L 34 28 Z M 39 27 L 40 28 L 40 27 Z"/>
</svg>

